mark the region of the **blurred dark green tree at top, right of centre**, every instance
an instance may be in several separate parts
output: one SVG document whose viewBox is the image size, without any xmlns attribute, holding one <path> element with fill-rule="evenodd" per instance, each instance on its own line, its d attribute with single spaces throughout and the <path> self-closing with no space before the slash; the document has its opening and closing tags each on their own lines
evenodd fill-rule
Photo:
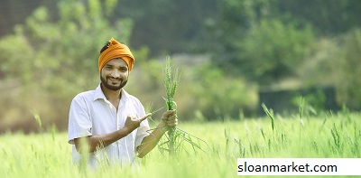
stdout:
<svg viewBox="0 0 361 178">
<path fill-rule="evenodd" d="M 233 75 L 267 85 L 294 75 L 313 40 L 309 25 L 274 18 L 267 1 L 224 2 L 223 20 L 216 24 L 214 60 Z"/>
</svg>

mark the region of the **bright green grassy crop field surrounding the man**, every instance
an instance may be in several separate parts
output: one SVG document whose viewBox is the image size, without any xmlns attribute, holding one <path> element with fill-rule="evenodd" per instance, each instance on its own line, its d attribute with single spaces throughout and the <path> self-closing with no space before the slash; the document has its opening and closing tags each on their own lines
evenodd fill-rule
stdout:
<svg viewBox="0 0 361 178">
<path fill-rule="evenodd" d="M 274 126 L 274 127 L 273 127 Z M 318 117 L 275 116 L 212 123 L 182 123 L 179 128 L 205 140 L 194 150 L 186 142 L 180 155 L 154 148 L 139 159 L 138 169 L 113 166 L 97 171 L 71 163 L 67 133 L 0 136 L 1 177 L 237 177 L 236 158 L 360 158 L 361 114 L 324 113 Z"/>
</svg>

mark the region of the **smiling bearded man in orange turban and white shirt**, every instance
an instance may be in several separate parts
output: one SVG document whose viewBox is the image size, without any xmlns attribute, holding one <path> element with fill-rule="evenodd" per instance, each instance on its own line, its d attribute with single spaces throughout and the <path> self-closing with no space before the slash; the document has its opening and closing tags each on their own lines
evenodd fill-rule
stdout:
<svg viewBox="0 0 361 178">
<path fill-rule="evenodd" d="M 125 84 L 134 66 L 129 48 L 115 39 L 106 42 L 98 58 L 101 83 L 97 89 L 73 98 L 69 109 L 69 144 L 79 164 L 132 164 L 135 155 L 147 155 L 166 132 L 176 126 L 175 111 L 162 114 L 157 129 L 150 133 L 147 117 L 138 98 L 128 94 Z M 84 157 L 84 156 L 83 156 Z"/>
</svg>

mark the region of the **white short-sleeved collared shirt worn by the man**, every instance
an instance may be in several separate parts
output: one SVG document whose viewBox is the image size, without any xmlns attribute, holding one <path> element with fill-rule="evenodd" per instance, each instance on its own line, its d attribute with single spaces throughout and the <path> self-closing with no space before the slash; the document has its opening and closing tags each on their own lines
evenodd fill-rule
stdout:
<svg viewBox="0 0 361 178">
<path fill-rule="evenodd" d="M 115 132 L 124 127 L 127 116 L 143 117 L 145 111 L 138 98 L 122 89 L 118 111 L 106 99 L 100 84 L 97 89 L 82 92 L 73 98 L 69 109 L 69 144 L 72 145 L 73 160 L 79 164 L 80 155 L 74 145 L 74 138 L 95 136 Z M 95 168 L 98 163 L 132 164 L 135 147 L 141 145 L 150 129 L 147 119 L 128 136 L 111 145 L 90 153 L 88 164 Z"/>
</svg>

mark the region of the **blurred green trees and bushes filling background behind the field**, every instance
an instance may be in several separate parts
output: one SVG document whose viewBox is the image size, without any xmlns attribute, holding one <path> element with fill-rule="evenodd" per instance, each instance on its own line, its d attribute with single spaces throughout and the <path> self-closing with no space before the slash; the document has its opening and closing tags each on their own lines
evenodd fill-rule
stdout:
<svg viewBox="0 0 361 178">
<path fill-rule="evenodd" d="M 111 37 L 136 58 L 126 89 L 164 106 L 162 64 L 182 70 L 183 120 L 255 116 L 260 89 L 334 86 L 361 108 L 358 0 L 5 0 L 0 6 L 0 132 L 65 130 L 71 99 L 99 83 Z"/>
</svg>

